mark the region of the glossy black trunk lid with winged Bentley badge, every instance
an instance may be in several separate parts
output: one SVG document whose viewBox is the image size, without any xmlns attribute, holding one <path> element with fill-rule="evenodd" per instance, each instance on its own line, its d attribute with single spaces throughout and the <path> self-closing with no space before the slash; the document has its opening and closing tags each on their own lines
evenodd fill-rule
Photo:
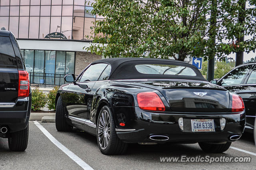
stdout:
<svg viewBox="0 0 256 170">
<path fill-rule="evenodd" d="M 172 111 L 227 112 L 229 93 L 223 87 L 200 81 L 140 82 L 160 91 Z"/>
</svg>

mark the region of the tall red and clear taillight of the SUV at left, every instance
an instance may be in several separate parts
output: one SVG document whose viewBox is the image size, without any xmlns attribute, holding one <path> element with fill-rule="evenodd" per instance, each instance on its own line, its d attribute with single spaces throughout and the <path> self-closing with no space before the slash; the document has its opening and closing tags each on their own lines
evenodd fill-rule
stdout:
<svg viewBox="0 0 256 170">
<path fill-rule="evenodd" d="M 19 70 L 18 97 L 29 96 L 29 74 L 28 71 Z"/>
</svg>

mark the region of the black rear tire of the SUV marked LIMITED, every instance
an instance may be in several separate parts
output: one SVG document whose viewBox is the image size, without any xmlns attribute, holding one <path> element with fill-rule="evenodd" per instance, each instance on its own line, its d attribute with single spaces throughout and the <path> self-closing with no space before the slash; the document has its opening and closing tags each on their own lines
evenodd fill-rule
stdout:
<svg viewBox="0 0 256 170">
<path fill-rule="evenodd" d="M 28 146 L 28 126 L 24 130 L 13 132 L 8 138 L 9 149 L 12 151 L 24 151 Z"/>
</svg>

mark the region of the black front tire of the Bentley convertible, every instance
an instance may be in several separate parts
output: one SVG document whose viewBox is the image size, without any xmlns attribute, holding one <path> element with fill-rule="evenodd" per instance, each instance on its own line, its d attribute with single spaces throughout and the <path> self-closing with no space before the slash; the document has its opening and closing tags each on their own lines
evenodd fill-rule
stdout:
<svg viewBox="0 0 256 170">
<path fill-rule="evenodd" d="M 68 123 L 66 122 L 64 106 L 60 96 L 56 105 L 55 126 L 56 129 L 60 132 L 67 132 L 72 129 L 72 126 L 68 125 Z"/>
</svg>

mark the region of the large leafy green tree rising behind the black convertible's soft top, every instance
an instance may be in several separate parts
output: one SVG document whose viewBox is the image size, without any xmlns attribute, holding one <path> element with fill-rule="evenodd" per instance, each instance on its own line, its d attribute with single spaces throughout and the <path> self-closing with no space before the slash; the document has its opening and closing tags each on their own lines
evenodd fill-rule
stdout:
<svg viewBox="0 0 256 170">
<path fill-rule="evenodd" d="M 237 1 L 218 1 L 216 8 L 209 0 L 97 0 L 92 13 L 105 20 L 96 21 L 91 29 L 93 35 L 104 36 L 92 36 L 94 43 L 84 48 L 105 57 L 144 57 L 149 52 L 148 57 L 173 56 L 181 61 L 188 55 L 221 59 L 238 50 L 255 50 L 254 38 L 236 41 L 243 36 L 241 30 L 251 36 L 256 32 L 256 10 L 244 11 Z M 211 11 L 216 12 L 216 22 L 210 21 Z M 241 13 L 246 16 L 244 25 L 238 23 Z M 209 38 L 211 30 L 216 30 L 216 42 Z"/>
</svg>

